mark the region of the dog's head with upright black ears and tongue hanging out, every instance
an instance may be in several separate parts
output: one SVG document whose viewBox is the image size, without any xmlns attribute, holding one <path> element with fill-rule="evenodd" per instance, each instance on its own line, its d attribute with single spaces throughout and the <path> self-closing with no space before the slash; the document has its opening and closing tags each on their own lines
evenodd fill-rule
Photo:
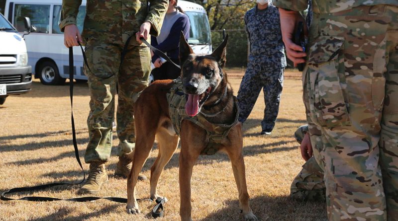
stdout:
<svg viewBox="0 0 398 221">
<path fill-rule="evenodd" d="M 181 78 L 187 97 L 185 110 L 189 116 L 199 113 L 202 105 L 222 81 L 227 42 L 228 35 L 211 55 L 197 56 L 181 33 L 179 55 Z"/>
</svg>

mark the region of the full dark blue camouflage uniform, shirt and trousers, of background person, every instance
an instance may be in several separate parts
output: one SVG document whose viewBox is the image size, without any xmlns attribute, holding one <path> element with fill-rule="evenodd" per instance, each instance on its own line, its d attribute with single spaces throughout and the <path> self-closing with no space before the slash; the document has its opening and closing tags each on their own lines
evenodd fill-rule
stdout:
<svg viewBox="0 0 398 221">
<path fill-rule="evenodd" d="M 278 116 L 286 67 L 285 47 L 279 21 L 279 11 L 274 5 L 264 10 L 257 6 L 245 14 L 246 31 L 250 42 L 247 70 L 238 91 L 239 121 L 245 122 L 263 88 L 263 131 L 271 132 Z"/>
</svg>

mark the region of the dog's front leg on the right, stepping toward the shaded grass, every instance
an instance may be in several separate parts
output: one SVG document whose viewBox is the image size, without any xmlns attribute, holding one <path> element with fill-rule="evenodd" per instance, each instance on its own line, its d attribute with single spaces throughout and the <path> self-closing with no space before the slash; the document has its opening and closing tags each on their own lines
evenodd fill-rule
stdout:
<svg viewBox="0 0 398 221">
<path fill-rule="evenodd" d="M 246 220 L 257 221 L 257 217 L 254 216 L 249 205 L 249 194 L 247 192 L 246 185 L 245 163 L 242 155 L 243 141 L 241 128 L 238 126 L 234 129 L 232 129 L 228 135 L 228 138 L 231 141 L 231 147 L 225 148 L 224 150 L 227 152 L 229 158 L 231 159 L 232 171 L 239 193 L 239 208 L 243 212 Z"/>
</svg>

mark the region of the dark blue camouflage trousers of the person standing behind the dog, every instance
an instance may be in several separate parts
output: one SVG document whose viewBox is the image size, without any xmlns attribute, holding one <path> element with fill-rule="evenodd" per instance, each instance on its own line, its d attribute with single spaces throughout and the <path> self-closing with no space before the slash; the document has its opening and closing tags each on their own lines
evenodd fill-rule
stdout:
<svg viewBox="0 0 398 221">
<path fill-rule="evenodd" d="M 258 95 L 264 92 L 264 119 L 261 121 L 263 131 L 271 132 L 279 112 L 283 88 L 284 68 L 271 69 L 260 62 L 249 62 L 238 91 L 239 121 L 245 122 L 250 115 Z"/>
</svg>

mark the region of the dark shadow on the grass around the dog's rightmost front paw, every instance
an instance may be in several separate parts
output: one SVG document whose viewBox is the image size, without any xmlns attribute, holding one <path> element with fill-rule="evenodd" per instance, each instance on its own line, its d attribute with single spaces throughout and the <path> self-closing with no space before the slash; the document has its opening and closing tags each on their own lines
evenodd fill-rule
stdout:
<svg viewBox="0 0 398 221">
<path fill-rule="evenodd" d="M 241 221 L 238 200 L 224 202 L 225 208 L 199 221 Z M 298 202 L 289 196 L 257 196 L 250 199 L 254 215 L 260 221 L 326 221 L 326 205 L 322 202 Z"/>
</svg>

